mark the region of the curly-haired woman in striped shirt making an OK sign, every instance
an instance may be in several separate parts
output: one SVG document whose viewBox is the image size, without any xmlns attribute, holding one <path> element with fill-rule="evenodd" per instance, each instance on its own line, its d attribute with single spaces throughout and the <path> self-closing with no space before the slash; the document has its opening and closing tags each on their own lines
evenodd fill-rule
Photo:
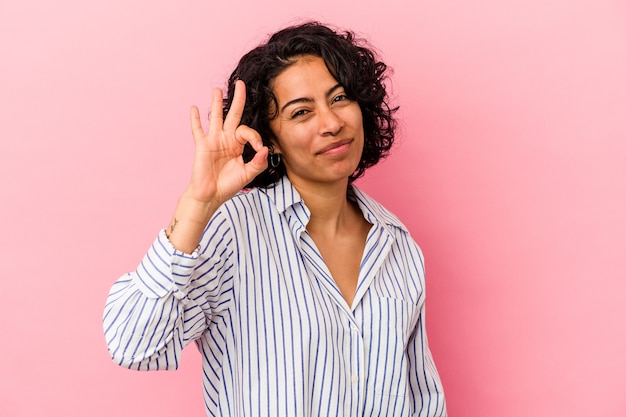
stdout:
<svg viewBox="0 0 626 417">
<path fill-rule="evenodd" d="M 175 369 L 195 341 L 207 415 L 446 415 L 422 254 L 352 185 L 393 143 L 385 70 L 306 23 L 240 60 L 207 132 L 192 107 L 191 181 L 105 308 L 117 363 Z"/>
</svg>

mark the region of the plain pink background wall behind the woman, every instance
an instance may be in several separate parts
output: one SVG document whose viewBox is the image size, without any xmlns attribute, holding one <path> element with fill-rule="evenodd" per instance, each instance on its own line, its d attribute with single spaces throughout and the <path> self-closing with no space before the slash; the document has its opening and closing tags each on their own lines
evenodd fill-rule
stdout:
<svg viewBox="0 0 626 417">
<path fill-rule="evenodd" d="M 203 414 L 195 348 L 117 368 L 102 308 L 186 184 L 189 106 L 300 17 L 395 69 L 360 185 L 425 252 L 450 415 L 626 415 L 623 0 L 0 0 L 0 415 Z"/>
</svg>

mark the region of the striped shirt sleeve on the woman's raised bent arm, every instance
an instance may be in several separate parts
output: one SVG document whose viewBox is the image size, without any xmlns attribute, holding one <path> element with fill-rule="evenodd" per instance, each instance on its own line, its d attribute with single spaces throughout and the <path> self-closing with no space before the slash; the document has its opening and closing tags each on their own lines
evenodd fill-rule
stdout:
<svg viewBox="0 0 626 417">
<path fill-rule="evenodd" d="M 224 231 L 213 230 L 211 234 Z M 205 233 L 206 237 L 206 233 Z M 138 268 L 113 284 L 103 327 L 109 352 L 120 366 L 137 370 L 177 369 L 184 346 L 208 326 L 224 271 L 223 234 L 191 255 L 174 249 L 162 230 Z M 215 296 L 215 294 L 218 294 Z M 221 300 L 223 302 L 223 300 Z"/>
</svg>

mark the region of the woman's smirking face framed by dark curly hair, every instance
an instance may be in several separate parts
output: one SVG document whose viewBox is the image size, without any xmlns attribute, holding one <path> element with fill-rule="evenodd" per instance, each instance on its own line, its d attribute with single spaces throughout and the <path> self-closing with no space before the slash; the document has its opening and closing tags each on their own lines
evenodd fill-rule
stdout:
<svg viewBox="0 0 626 417">
<path fill-rule="evenodd" d="M 347 183 L 363 153 L 358 103 L 315 56 L 298 58 L 273 80 L 272 90 L 278 102 L 270 121 L 274 151 L 282 154 L 289 180 L 296 186 Z"/>
</svg>

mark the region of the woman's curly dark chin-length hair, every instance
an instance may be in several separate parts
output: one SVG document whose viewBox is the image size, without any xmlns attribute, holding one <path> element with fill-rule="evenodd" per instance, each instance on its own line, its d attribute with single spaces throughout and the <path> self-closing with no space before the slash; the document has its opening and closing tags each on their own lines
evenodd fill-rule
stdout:
<svg viewBox="0 0 626 417">
<path fill-rule="evenodd" d="M 361 160 L 349 181 L 361 177 L 365 170 L 388 155 L 394 141 L 397 107 L 390 107 L 384 82 L 387 65 L 378 61 L 366 41 L 351 31 L 338 32 L 319 22 L 287 27 L 244 55 L 228 80 L 224 117 L 235 93 L 235 82 L 246 84 L 246 104 L 241 123 L 259 132 L 270 150 L 275 139 L 270 120 L 277 117 L 277 100 L 272 92 L 273 80 L 303 55 L 322 58 L 331 75 L 346 95 L 356 101 L 363 115 L 364 147 Z M 246 144 L 243 158 L 248 162 L 254 150 Z M 252 180 L 247 188 L 270 187 L 285 175 L 285 165 L 268 168 Z"/>
</svg>

